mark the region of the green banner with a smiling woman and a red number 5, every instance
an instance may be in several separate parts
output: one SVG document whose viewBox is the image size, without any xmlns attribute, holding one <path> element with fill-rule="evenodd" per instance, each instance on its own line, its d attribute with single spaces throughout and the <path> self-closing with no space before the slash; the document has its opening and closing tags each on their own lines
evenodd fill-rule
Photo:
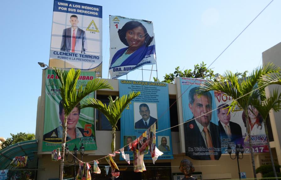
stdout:
<svg viewBox="0 0 281 180">
<path fill-rule="evenodd" d="M 77 82 L 77 88 L 86 86 L 89 80 L 95 78 L 95 72 L 81 71 Z M 43 132 L 42 151 L 53 151 L 62 147 L 62 126 L 64 122 L 64 109 L 60 93 L 60 80 L 52 69 L 46 69 L 46 98 L 45 98 L 45 122 Z M 92 92 L 85 98 L 95 97 Z M 79 104 L 78 104 L 79 105 Z M 69 149 L 75 145 L 79 148 L 83 143 L 85 149 L 96 150 L 94 109 L 75 107 L 68 116 L 66 143 Z"/>
</svg>

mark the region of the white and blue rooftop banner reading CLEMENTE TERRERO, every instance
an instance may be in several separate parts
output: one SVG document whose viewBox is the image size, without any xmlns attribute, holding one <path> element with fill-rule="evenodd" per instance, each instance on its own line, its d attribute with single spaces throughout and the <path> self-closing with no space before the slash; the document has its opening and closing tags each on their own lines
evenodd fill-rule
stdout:
<svg viewBox="0 0 281 180">
<path fill-rule="evenodd" d="M 102 7 L 54 1 L 50 67 L 102 69 Z"/>
</svg>

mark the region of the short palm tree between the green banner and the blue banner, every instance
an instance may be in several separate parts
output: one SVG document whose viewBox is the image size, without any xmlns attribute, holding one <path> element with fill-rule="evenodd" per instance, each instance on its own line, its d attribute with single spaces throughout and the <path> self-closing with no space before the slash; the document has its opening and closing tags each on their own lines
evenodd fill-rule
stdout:
<svg viewBox="0 0 281 180">
<path fill-rule="evenodd" d="M 108 121 L 111 124 L 112 127 L 112 141 L 111 141 L 111 151 L 114 153 L 115 151 L 115 133 L 116 133 L 116 124 L 118 122 L 118 119 L 120 119 L 122 112 L 127 107 L 130 101 L 137 97 L 140 94 L 140 92 L 130 92 L 128 95 L 123 95 L 121 98 L 118 96 L 113 101 L 112 97 L 109 96 L 109 104 L 106 106 L 106 104 L 103 104 L 100 100 L 95 100 L 94 98 L 87 98 L 84 100 L 83 104 L 81 105 L 81 109 L 85 107 L 93 107 L 98 110 L 100 110 L 105 117 L 108 119 Z"/>
</svg>

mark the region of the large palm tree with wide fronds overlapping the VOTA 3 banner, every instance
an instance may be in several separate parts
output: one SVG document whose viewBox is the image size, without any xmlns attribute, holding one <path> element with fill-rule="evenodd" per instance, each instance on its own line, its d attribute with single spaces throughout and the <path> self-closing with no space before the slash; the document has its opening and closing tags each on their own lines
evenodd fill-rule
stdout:
<svg viewBox="0 0 281 180">
<path fill-rule="evenodd" d="M 247 78 L 239 79 L 231 71 L 226 71 L 223 74 L 222 81 L 207 81 L 200 87 L 198 93 L 204 93 L 210 90 L 221 91 L 224 95 L 228 95 L 234 99 L 231 103 L 232 110 L 235 107 L 238 107 L 240 110 L 244 110 L 246 114 L 246 119 L 248 119 L 248 106 L 251 105 L 251 100 L 258 99 L 260 100 L 260 91 L 256 89 L 257 82 L 260 82 L 260 85 L 266 86 L 268 84 L 265 81 L 262 81 L 263 76 L 267 76 L 271 73 L 280 74 L 280 68 L 276 67 L 272 63 L 266 64 L 264 67 L 255 68 Z M 270 83 L 274 84 L 273 81 Z M 255 89 L 255 90 L 254 90 Z M 249 121 L 246 121 L 247 133 L 250 135 L 251 128 Z M 256 175 L 256 166 L 254 160 L 254 152 L 252 147 L 252 140 L 249 138 L 249 145 L 251 150 L 251 160 L 252 167 L 255 179 Z"/>
</svg>

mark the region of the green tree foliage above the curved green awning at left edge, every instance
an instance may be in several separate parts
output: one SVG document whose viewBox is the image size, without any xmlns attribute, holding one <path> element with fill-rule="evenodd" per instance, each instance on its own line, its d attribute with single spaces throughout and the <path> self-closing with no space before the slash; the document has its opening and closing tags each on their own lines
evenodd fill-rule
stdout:
<svg viewBox="0 0 281 180">
<path fill-rule="evenodd" d="M 23 142 L 23 141 L 29 141 L 29 140 L 34 140 L 35 139 L 35 134 L 33 133 L 17 133 L 17 134 L 12 134 L 10 133 L 10 135 L 12 136 L 11 138 L 7 138 L 6 141 L 3 142 L 3 144 L 1 145 L 1 148 L 4 149 L 10 145 L 14 145 L 16 143 L 19 142 Z"/>
</svg>

